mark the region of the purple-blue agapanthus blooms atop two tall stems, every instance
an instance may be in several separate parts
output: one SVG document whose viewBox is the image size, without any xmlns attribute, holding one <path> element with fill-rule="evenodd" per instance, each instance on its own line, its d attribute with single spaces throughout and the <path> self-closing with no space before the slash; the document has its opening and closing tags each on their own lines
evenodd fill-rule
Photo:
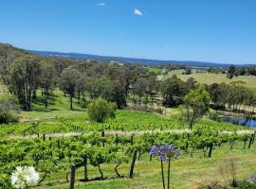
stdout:
<svg viewBox="0 0 256 189">
<path fill-rule="evenodd" d="M 152 146 L 150 155 L 157 157 L 159 160 L 168 162 L 172 158 L 181 155 L 180 149 L 174 145 Z"/>
</svg>

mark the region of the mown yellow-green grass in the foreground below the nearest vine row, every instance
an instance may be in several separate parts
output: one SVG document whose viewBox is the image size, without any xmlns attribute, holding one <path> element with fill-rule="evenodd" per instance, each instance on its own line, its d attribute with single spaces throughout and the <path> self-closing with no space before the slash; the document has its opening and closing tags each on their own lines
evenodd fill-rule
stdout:
<svg viewBox="0 0 256 189">
<path fill-rule="evenodd" d="M 212 158 L 203 158 L 202 151 L 194 154 L 194 157 L 189 157 L 184 153 L 178 160 L 172 162 L 171 166 L 171 184 L 172 188 L 196 188 L 203 182 L 210 180 L 224 181 L 220 177 L 218 166 L 223 161 L 231 157 L 237 164 L 237 179 L 247 180 L 247 178 L 255 173 L 256 169 L 256 145 L 250 149 L 244 149 L 243 144 L 236 144 L 234 149 L 229 149 L 229 146 L 222 146 L 220 149 L 213 150 Z M 112 178 L 108 180 L 98 181 L 79 181 L 82 179 L 82 168 L 77 170 L 76 188 L 161 188 L 160 163 L 157 160 L 149 162 L 149 155 L 145 154 L 142 160 L 138 161 L 135 169 L 135 177 L 131 179 L 115 179 L 114 164 L 104 164 L 102 171 L 105 177 Z M 129 164 L 120 166 L 119 172 L 127 175 Z M 167 170 L 167 163 L 165 163 Z M 89 178 L 99 177 L 97 167 L 89 166 Z M 114 177 L 114 178 L 113 178 Z M 61 185 L 55 185 L 59 182 Z M 68 184 L 64 183 L 65 177 L 63 174 L 58 174 L 46 180 L 45 184 L 54 184 L 53 189 L 68 188 Z M 43 188 L 45 188 L 43 186 Z"/>
</svg>

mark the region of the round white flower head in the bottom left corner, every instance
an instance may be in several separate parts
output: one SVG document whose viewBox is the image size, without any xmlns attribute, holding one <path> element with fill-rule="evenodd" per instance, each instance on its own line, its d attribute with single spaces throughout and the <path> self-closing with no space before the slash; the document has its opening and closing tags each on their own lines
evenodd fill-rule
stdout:
<svg viewBox="0 0 256 189">
<path fill-rule="evenodd" d="M 36 185 L 39 180 L 39 174 L 33 166 L 17 166 L 11 174 L 11 184 L 14 188 L 26 188 L 28 185 Z"/>
</svg>

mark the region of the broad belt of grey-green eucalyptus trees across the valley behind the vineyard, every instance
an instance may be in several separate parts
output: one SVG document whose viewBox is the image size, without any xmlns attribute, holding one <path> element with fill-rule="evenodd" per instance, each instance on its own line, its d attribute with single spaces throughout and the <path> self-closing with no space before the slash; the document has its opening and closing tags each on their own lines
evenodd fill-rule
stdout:
<svg viewBox="0 0 256 189">
<path fill-rule="evenodd" d="M 69 97 L 70 109 L 74 98 L 82 107 L 88 100 L 101 97 L 115 102 L 119 109 L 133 102 L 137 105 L 162 104 L 178 107 L 186 102 L 186 94 L 199 83 L 190 77 L 183 81 L 175 75 L 158 79 L 155 73 L 136 64 L 120 64 L 95 60 L 68 60 L 32 55 L 13 46 L 0 45 L 1 77 L 9 92 L 14 94 L 23 110 L 40 94 L 46 108 L 50 95 L 57 87 Z M 169 69 L 179 67 L 169 64 Z M 255 108 L 255 93 L 242 81 L 205 85 L 210 93 L 211 107 L 243 111 Z"/>
</svg>

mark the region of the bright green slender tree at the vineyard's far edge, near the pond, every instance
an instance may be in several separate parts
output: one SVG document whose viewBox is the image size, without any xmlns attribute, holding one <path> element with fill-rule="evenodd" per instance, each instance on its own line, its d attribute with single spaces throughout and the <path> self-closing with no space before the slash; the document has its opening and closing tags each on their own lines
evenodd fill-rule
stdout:
<svg viewBox="0 0 256 189">
<path fill-rule="evenodd" d="M 182 118 L 189 125 L 189 129 L 206 112 L 209 112 L 210 94 L 206 91 L 204 85 L 199 85 L 195 90 L 185 95 L 184 105 L 180 107 Z"/>
</svg>

